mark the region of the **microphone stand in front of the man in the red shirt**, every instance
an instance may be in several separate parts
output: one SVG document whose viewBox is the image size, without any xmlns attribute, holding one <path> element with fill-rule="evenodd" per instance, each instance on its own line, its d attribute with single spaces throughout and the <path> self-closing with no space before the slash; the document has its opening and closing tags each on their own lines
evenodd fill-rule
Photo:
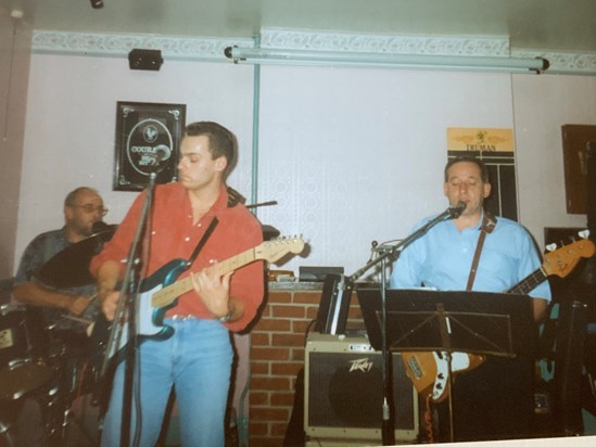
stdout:
<svg viewBox="0 0 596 447">
<path fill-rule="evenodd" d="M 156 173 L 151 173 L 147 186 L 147 195 L 137 224 L 135 239 L 130 245 L 128 257 L 126 260 L 126 272 L 124 276 L 118 305 L 114 317 L 114 324 L 107 342 L 106 353 L 113 352 L 114 343 L 123 336 L 128 337 L 125 355 L 125 379 L 123 391 L 123 410 L 121 423 L 121 446 L 129 446 L 130 438 L 130 420 L 132 407 L 132 382 L 135 376 L 135 359 L 137 354 L 137 293 L 140 288 L 141 271 L 143 268 L 143 247 L 142 240 L 147 233 L 149 222 L 149 214 L 153 205 L 153 192 L 155 190 Z M 123 325 L 127 324 L 126 331 L 123 331 Z M 123 335 L 124 334 L 124 335 Z M 118 346 L 118 345 L 116 345 Z M 105 356 L 102 366 L 102 372 L 107 370 L 109 356 Z M 136 423 L 139 426 L 139 421 Z"/>
</svg>

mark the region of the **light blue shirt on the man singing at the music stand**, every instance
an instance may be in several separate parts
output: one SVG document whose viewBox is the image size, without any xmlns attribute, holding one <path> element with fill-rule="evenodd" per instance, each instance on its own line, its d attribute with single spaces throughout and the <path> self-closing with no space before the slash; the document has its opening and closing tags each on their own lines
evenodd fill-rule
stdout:
<svg viewBox="0 0 596 447">
<path fill-rule="evenodd" d="M 421 228 L 434 216 L 422 219 Z M 433 288 L 464 291 L 470 276 L 482 219 L 473 228 L 459 231 L 453 220 L 442 221 L 406 246 L 393 266 L 391 289 Z M 486 235 L 472 290 L 507 292 L 541 266 L 536 245 L 518 222 L 498 217 Z M 528 293 L 550 301 L 550 286 L 542 282 Z"/>
</svg>

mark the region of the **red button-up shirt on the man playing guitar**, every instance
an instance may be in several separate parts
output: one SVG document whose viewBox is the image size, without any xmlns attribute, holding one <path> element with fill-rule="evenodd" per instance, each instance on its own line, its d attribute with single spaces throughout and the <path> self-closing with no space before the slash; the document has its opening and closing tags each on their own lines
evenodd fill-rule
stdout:
<svg viewBox="0 0 596 447">
<path fill-rule="evenodd" d="M 123 261 L 121 269 L 125 272 L 124 261 L 128 256 L 131 242 L 137 231 L 145 193 L 139 194 L 117 231 L 102 252 L 91 260 L 90 271 L 97 276 L 100 266 L 106 260 Z M 157 186 L 154 193 L 153 213 L 150 221 L 149 259 L 143 278 L 150 278 L 160 267 L 173 259 L 189 259 L 211 221 L 216 216 L 218 224 L 201 250 L 199 256 L 178 279 L 189 276 L 210 266 L 212 260 L 224 261 L 263 242 L 263 231 L 257 219 L 242 204 L 228 207 L 228 193 L 221 192 L 212 208 L 193 224 L 192 209 L 188 192 L 180 183 Z M 227 323 L 231 331 L 244 329 L 256 316 L 264 296 L 263 261 L 256 260 L 238 268 L 231 277 L 230 296 L 242 301 L 244 316 Z M 175 307 L 166 312 L 172 315 L 192 315 L 199 318 L 213 319 L 194 290 L 178 297 Z"/>
</svg>

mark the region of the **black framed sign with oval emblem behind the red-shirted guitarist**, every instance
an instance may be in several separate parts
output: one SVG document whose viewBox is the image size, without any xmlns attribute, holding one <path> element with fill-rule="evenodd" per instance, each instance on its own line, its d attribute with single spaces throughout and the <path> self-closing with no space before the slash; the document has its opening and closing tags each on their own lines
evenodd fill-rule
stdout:
<svg viewBox="0 0 596 447">
<path fill-rule="evenodd" d="M 176 180 L 186 107 L 118 101 L 114 191 L 141 191 L 152 173 L 156 183 Z"/>
</svg>

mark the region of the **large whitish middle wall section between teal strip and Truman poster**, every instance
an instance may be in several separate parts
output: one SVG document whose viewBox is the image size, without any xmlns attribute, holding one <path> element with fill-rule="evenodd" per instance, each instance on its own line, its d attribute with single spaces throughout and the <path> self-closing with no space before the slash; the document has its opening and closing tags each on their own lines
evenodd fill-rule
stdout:
<svg viewBox="0 0 596 447">
<path fill-rule="evenodd" d="M 263 68 L 259 193 L 280 205 L 261 216 L 312 243 L 290 266 L 352 274 L 443 210 L 447 127 L 511 128 L 510 91 L 503 74 Z"/>
</svg>

